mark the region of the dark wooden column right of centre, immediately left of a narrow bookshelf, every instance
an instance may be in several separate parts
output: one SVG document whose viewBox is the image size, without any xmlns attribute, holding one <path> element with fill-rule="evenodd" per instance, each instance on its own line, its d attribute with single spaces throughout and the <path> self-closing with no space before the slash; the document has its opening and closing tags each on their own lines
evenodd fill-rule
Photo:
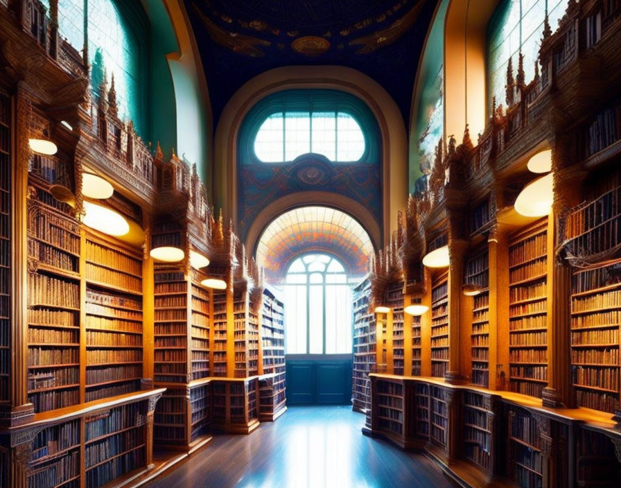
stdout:
<svg viewBox="0 0 621 488">
<path fill-rule="evenodd" d="M 460 229 L 463 216 L 451 211 L 448 222 L 448 368 L 444 378 L 448 383 L 463 383 L 460 368 L 460 308 L 464 282 L 464 256 L 468 241 L 462 239 Z"/>
</svg>

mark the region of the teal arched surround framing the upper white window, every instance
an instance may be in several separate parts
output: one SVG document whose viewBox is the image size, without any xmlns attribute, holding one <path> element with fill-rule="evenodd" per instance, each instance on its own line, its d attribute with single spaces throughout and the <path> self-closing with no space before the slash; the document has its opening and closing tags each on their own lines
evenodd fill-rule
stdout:
<svg viewBox="0 0 621 488">
<path fill-rule="evenodd" d="M 332 161 L 330 164 L 355 165 L 360 163 L 381 164 L 381 132 L 375 116 L 360 98 L 333 89 L 290 89 L 266 96 L 246 114 L 238 135 L 238 164 L 260 164 L 264 166 L 286 166 L 300 156 L 285 162 L 263 162 L 254 152 L 254 141 L 261 125 L 272 114 L 279 112 L 334 112 L 351 116 L 365 138 L 365 150 L 356 161 Z M 311 116 L 312 119 L 312 116 Z M 320 157 L 325 157 L 321 153 Z"/>
</svg>

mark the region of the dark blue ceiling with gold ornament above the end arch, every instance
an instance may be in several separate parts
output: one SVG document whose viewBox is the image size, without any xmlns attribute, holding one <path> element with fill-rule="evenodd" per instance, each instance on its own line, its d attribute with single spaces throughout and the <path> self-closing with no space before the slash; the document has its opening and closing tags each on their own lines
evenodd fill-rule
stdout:
<svg viewBox="0 0 621 488">
<path fill-rule="evenodd" d="M 373 78 L 409 125 L 414 77 L 437 0 L 184 0 L 216 128 L 231 96 L 282 66 L 338 64 Z"/>
</svg>

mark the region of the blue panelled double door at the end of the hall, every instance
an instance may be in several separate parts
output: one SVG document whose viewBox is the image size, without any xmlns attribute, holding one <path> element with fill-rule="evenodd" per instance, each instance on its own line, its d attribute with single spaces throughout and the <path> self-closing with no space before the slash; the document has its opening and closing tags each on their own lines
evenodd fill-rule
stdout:
<svg viewBox="0 0 621 488">
<path fill-rule="evenodd" d="M 291 354 L 287 363 L 287 405 L 351 403 L 351 354 Z"/>
</svg>

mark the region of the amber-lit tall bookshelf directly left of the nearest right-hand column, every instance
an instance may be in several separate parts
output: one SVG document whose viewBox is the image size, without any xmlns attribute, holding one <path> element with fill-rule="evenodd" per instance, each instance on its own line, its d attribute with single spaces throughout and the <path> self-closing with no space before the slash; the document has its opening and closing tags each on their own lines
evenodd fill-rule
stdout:
<svg viewBox="0 0 621 488">
<path fill-rule="evenodd" d="M 541 398 L 548 384 L 547 219 L 509 242 L 509 389 Z"/>
</svg>

